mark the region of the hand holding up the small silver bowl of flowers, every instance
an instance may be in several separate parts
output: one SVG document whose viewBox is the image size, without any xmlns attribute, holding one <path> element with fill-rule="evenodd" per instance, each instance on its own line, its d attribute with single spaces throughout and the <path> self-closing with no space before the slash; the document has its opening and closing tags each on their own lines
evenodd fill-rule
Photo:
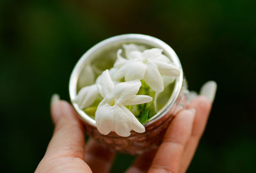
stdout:
<svg viewBox="0 0 256 173">
<path fill-rule="evenodd" d="M 204 132 L 216 92 L 216 83 L 207 82 L 190 95 L 187 110 L 177 114 L 156 151 L 138 156 L 127 173 L 186 172 Z M 72 106 L 52 97 L 51 114 L 55 124 L 51 142 L 36 173 L 109 172 L 115 153 L 90 139 L 85 146 L 84 128 Z M 86 152 L 85 152 L 86 151 Z"/>
</svg>

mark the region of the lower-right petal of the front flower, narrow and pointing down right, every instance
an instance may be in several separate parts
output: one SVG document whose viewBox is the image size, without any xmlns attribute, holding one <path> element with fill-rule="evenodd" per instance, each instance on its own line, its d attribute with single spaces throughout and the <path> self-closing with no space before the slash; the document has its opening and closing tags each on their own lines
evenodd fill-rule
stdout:
<svg viewBox="0 0 256 173">
<path fill-rule="evenodd" d="M 129 116 L 130 126 L 132 130 L 138 133 L 145 132 L 145 127 L 140 123 L 140 121 L 138 121 L 138 119 L 134 116 L 134 114 L 132 114 L 129 109 L 124 106 L 121 106 L 120 108 L 126 112 L 127 116 Z"/>
</svg>

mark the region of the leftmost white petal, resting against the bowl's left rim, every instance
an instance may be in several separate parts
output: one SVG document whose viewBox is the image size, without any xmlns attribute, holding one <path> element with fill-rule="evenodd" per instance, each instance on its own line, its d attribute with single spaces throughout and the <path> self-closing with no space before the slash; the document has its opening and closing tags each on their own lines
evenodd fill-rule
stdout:
<svg viewBox="0 0 256 173">
<path fill-rule="evenodd" d="M 84 109 L 92 105 L 98 95 L 99 92 L 96 85 L 86 86 L 79 91 L 73 101 L 77 103 L 80 109 Z"/>
</svg>

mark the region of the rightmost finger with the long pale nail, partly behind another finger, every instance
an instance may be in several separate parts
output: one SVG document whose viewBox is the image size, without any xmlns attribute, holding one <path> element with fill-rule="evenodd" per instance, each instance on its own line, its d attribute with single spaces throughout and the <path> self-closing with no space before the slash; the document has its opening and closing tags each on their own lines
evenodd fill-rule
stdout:
<svg viewBox="0 0 256 173">
<path fill-rule="evenodd" d="M 196 116 L 193 124 L 191 138 L 189 139 L 186 150 L 184 152 L 180 172 L 186 172 L 189 167 L 189 163 L 195 154 L 196 147 L 198 146 L 200 138 L 204 133 L 207 119 L 211 111 L 211 105 L 216 93 L 216 88 L 216 82 L 206 82 L 200 90 L 201 96 L 196 97 L 188 105 L 190 109 L 196 109 Z"/>
</svg>

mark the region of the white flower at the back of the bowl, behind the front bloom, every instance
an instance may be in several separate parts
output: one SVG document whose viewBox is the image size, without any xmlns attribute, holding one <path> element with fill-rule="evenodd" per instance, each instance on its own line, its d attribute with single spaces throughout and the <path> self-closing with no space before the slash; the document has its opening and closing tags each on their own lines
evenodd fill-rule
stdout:
<svg viewBox="0 0 256 173">
<path fill-rule="evenodd" d="M 162 75 L 169 77 L 179 77 L 180 75 L 179 68 L 162 54 L 163 50 L 161 49 L 154 48 L 143 52 L 128 51 L 125 49 L 127 56 L 125 59 L 121 56 L 122 50 L 118 50 L 114 64 L 118 71 L 113 76 L 114 79 L 122 79 L 122 77 L 125 77 L 125 81 L 143 79 L 152 90 L 161 92 L 164 89 Z"/>
</svg>

